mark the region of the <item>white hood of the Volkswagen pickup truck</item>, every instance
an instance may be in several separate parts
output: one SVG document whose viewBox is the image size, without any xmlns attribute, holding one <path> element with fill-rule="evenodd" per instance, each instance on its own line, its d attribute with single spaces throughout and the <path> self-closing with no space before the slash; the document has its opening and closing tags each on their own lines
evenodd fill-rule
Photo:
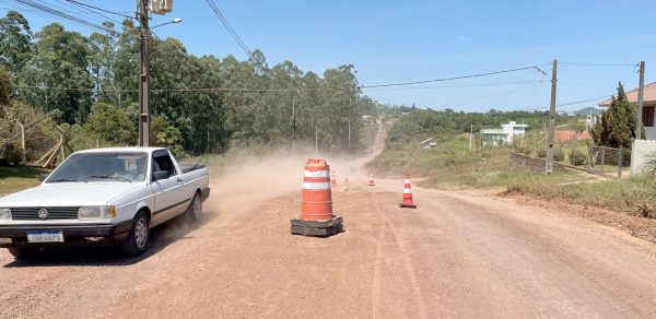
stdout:
<svg viewBox="0 0 656 319">
<path fill-rule="evenodd" d="M 0 208 L 105 205 L 140 182 L 52 182 L 0 198 Z"/>
</svg>

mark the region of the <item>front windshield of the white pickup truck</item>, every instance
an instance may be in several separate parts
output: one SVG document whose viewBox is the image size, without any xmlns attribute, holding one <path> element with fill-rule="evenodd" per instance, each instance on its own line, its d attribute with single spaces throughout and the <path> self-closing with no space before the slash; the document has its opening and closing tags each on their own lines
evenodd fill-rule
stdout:
<svg viewBox="0 0 656 319">
<path fill-rule="evenodd" d="M 145 153 L 78 153 L 55 169 L 46 182 L 143 181 L 147 158 Z"/>
</svg>

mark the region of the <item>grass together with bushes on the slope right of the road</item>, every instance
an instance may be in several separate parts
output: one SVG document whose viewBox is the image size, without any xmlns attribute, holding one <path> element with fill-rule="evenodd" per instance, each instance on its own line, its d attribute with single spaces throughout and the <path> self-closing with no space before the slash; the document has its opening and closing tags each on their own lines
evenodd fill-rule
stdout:
<svg viewBox="0 0 656 319">
<path fill-rule="evenodd" d="M 472 137 L 472 151 L 469 150 L 469 125 L 445 130 L 443 122 L 449 117 L 458 122 L 464 115 L 448 110 L 407 110 L 410 114 L 394 125 L 386 140 L 385 151 L 367 164 L 377 175 L 400 178 L 405 174 L 422 177 L 422 187 L 443 190 L 493 189 L 500 193 L 528 194 L 548 200 L 563 200 L 574 204 L 606 208 L 643 217 L 656 217 L 656 181 L 653 176 L 599 180 L 586 174 L 570 172 L 541 175 L 511 163 L 513 151 L 535 157 L 546 141 L 542 132 L 529 131 L 524 139 L 513 145 L 483 146 Z M 543 114 L 494 113 L 496 121 L 538 121 Z M 531 118 L 534 117 L 535 118 Z M 484 118 L 484 116 L 482 116 Z M 526 118 L 524 118 L 526 117 Z M 460 119 L 458 119 L 460 118 Z M 455 120 L 453 120 L 455 119 Z M 561 119 L 566 121 L 566 119 Z M 426 125 L 427 123 L 427 125 Z M 440 123 L 440 125 L 438 125 Z M 566 125 L 566 123 L 563 123 Z M 539 126 L 541 128 L 541 126 Z M 429 138 L 434 146 L 420 142 Z M 537 141 L 537 142 L 536 142 Z M 554 157 L 563 164 L 585 165 L 586 141 L 572 141 L 557 146 Z M 656 172 L 656 161 L 649 174 Z M 617 165 L 617 163 L 614 163 Z M 617 166 L 614 166 L 617 168 Z M 656 174 L 655 174 L 656 175 Z"/>
</svg>

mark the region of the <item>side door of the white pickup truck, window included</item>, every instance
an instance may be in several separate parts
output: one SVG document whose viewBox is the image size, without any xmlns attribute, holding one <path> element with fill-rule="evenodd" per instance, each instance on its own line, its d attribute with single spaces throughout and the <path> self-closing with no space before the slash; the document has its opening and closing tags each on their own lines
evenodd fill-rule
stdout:
<svg viewBox="0 0 656 319">
<path fill-rule="evenodd" d="M 152 188 L 155 198 L 153 225 L 157 225 L 186 210 L 189 205 L 189 199 L 183 193 L 180 172 L 176 170 L 166 150 L 153 152 L 152 170 Z M 155 180 L 154 173 L 157 170 L 167 172 L 168 178 Z"/>
</svg>

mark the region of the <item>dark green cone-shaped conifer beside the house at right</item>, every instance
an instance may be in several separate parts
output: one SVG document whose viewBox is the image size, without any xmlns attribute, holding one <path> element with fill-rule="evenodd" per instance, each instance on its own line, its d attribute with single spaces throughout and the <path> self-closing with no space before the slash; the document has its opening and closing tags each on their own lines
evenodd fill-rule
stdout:
<svg viewBox="0 0 656 319">
<path fill-rule="evenodd" d="M 636 121 L 636 111 L 626 98 L 624 86 L 619 83 L 617 97 L 612 96 L 610 106 L 601 113 L 601 120 L 593 127 L 595 143 L 631 149 L 631 141 L 635 138 Z"/>
</svg>

